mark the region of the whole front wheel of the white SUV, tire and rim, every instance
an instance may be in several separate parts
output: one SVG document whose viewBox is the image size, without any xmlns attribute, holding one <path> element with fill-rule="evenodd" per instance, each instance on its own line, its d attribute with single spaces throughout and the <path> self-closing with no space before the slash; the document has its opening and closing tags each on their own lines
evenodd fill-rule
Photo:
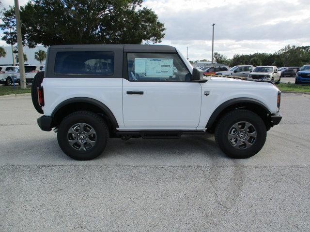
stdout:
<svg viewBox="0 0 310 232">
<path fill-rule="evenodd" d="M 215 139 L 232 158 L 246 159 L 258 153 L 266 141 L 266 126 L 260 116 L 249 110 L 233 110 L 218 121 Z"/>
</svg>

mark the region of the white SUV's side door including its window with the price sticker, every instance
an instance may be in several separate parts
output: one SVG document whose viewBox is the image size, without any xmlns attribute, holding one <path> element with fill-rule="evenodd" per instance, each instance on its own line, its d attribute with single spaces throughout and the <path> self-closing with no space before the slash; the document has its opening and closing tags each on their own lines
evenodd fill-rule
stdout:
<svg viewBox="0 0 310 232">
<path fill-rule="evenodd" d="M 177 54 L 127 53 L 123 79 L 125 128 L 195 130 L 202 87 Z"/>
</svg>

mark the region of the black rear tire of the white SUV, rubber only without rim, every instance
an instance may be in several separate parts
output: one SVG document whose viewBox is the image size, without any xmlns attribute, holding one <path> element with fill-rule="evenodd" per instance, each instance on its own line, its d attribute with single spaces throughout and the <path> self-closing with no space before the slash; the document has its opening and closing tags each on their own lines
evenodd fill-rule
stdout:
<svg viewBox="0 0 310 232">
<path fill-rule="evenodd" d="M 77 150 L 68 141 L 68 131 L 78 123 L 90 125 L 96 133 L 95 145 L 90 150 Z M 74 160 L 93 160 L 101 155 L 109 139 L 109 129 L 105 120 L 90 111 L 77 111 L 66 116 L 59 125 L 57 140 L 62 151 Z"/>
</svg>

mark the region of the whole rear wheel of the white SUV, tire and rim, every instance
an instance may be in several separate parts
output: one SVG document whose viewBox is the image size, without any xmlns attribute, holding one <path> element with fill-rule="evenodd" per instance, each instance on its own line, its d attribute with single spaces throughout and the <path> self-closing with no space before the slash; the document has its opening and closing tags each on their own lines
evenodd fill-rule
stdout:
<svg viewBox="0 0 310 232">
<path fill-rule="evenodd" d="M 90 111 L 78 111 L 66 116 L 57 133 L 62 151 L 75 160 L 92 160 L 105 149 L 109 130 L 105 120 Z"/>
</svg>

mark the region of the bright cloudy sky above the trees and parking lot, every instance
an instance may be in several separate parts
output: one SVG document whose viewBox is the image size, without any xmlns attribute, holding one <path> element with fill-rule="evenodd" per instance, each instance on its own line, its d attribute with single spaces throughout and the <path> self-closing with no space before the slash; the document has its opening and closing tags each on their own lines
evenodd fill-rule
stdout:
<svg viewBox="0 0 310 232">
<path fill-rule="evenodd" d="M 19 0 L 20 5 L 26 1 Z M 214 50 L 228 58 L 273 53 L 287 44 L 310 45 L 309 0 L 145 0 L 143 6 L 165 24 L 162 44 L 178 47 L 184 55 L 188 46 L 190 60 L 211 59 L 212 23 Z"/>
</svg>

